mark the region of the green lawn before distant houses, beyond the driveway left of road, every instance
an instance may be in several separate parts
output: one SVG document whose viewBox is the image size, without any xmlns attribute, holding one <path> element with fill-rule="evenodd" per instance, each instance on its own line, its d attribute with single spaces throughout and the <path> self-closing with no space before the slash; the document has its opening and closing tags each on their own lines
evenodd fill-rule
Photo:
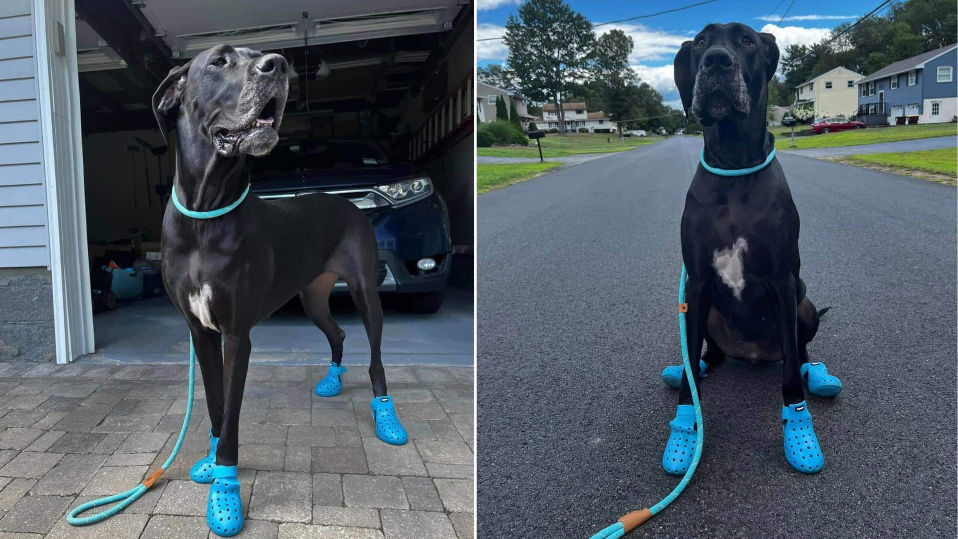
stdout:
<svg viewBox="0 0 958 539">
<path fill-rule="evenodd" d="M 625 140 L 625 144 L 623 144 Z M 645 146 L 661 140 L 661 137 L 626 137 L 625 139 L 608 133 L 568 133 L 564 135 L 546 133 L 540 139 L 542 156 L 562 157 L 577 153 L 624 152 L 638 146 Z M 478 148 L 479 155 L 491 157 L 538 157 L 536 141 L 530 140 L 529 146 L 493 146 Z"/>
</svg>

